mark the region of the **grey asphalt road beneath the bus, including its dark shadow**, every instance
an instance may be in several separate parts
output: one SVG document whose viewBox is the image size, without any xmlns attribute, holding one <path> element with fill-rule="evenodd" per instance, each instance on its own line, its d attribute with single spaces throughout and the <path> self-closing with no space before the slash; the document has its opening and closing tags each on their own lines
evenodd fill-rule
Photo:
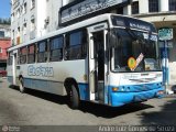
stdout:
<svg viewBox="0 0 176 132">
<path fill-rule="evenodd" d="M 151 125 L 176 124 L 176 96 L 120 108 L 82 102 L 72 110 L 67 99 L 35 90 L 20 94 L 0 79 L 0 125 Z"/>
</svg>

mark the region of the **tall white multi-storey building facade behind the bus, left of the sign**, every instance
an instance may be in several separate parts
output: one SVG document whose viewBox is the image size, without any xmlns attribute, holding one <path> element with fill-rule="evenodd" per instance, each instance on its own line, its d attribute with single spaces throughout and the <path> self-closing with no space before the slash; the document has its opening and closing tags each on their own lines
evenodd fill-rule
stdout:
<svg viewBox="0 0 176 132">
<path fill-rule="evenodd" d="M 11 0 L 12 45 L 41 37 L 58 29 L 61 0 Z"/>
</svg>

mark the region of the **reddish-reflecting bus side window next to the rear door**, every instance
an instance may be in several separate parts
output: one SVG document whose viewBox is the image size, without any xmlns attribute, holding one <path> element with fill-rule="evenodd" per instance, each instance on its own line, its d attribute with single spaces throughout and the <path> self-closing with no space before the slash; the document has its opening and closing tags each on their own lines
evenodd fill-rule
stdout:
<svg viewBox="0 0 176 132">
<path fill-rule="evenodd" d="M 19 57 L 20 57 L 20 64 L 25 64 L 26 63 L 26 54 L 28 54 L 28 48 L 22 47 L 19 51 Z"/>
</svg>

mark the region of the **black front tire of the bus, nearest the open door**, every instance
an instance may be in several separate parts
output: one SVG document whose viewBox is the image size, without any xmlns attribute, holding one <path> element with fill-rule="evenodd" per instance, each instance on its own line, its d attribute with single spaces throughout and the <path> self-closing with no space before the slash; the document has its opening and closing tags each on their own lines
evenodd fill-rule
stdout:
<svg viewBox="0 0 176 132">
<path fill-rule="evenodd" d="M 69 107 L 72 109 L 78 109 L 79 108 L 79 94 L 78 90 L 76 89 L 75 85 L 70 86 L 70 91 L 69 91 Z"/>
</svg>

